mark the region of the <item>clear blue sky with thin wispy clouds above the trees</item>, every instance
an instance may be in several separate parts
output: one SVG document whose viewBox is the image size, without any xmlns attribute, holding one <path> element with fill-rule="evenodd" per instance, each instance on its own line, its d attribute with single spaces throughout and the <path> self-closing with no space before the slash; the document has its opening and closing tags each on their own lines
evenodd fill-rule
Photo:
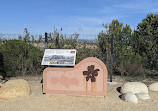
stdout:
<svg viewBox="0 0 158 111">
<path fill-rule="evenodd" d="M 158 0 L 1 0 L 0 33 L 53 32 L 97 35 L 118 19 L 132 29 L 147 14 L 158 14 Z"/>
</svg>

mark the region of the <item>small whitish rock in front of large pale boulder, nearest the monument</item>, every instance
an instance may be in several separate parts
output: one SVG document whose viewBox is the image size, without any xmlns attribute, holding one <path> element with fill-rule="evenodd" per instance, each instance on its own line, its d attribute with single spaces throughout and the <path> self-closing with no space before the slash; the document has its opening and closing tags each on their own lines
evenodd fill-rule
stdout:
<svg viewBox="0 0 158 111">
<path fill-rule="evenodd" d="M 136 95 L 132 92 L 127 92 L 122 95 L 122 99 L 125 100 L 126 102 L 131 102 L 131 103 L 138 103 L 138 98 Z"/>
</svg>

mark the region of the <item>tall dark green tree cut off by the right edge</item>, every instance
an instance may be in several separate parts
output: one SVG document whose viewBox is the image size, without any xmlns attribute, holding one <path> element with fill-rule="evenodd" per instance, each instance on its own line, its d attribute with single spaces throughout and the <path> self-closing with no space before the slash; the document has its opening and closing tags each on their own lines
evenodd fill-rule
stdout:
<svg viewBox="0 0 158 111">
<path fill-rule="evenodd" d="M 158 15 L 148 14 L 133 34 L 135 52 L 143 57 L 143 66 L 158 70 Z"/>
</svg>

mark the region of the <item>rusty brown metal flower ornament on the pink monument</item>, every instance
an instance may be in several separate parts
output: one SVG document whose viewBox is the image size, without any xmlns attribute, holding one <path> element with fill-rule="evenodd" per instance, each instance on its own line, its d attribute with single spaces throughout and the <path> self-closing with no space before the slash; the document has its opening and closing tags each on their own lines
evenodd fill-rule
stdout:
<svg viewBox="0 0 158 111">
<path fill-rule="evenodd" d="M 86 76 L 86 81 L 91 79 L 91 82 L 95 82 L 96 81 L 95 77 L 98 76 L 99 69 L 94 70 L 94 65 L 91 65 L 87 67 L 87 70 L 88 71 L 83 71 L 83 75 Z"/>
</svg>

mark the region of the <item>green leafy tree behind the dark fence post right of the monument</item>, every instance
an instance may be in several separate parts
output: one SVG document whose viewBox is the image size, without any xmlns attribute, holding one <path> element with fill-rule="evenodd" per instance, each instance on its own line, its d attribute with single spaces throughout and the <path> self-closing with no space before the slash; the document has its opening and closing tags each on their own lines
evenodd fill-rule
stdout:
<svg viewBox="0 0 158 111">
<path fill-rule="evenodd" d="M 141 57 L 136 54 L 131 47 L 132 30 L 129 25 L 123 25 L 118 20 L 113 20 L 109 26 L 104 25 L 106 32 L 101 32 L 98 35 L 98 47 L 102 52 L 102 56 L 106 61 L 107 68 L 110 61 L 111 36 L 113 36 L 113 58 L 114 71 L 121 75 L 139 75 L 141 66 Z M 132 70 L 131 70 L 132 69 Z"/>
</svg>

